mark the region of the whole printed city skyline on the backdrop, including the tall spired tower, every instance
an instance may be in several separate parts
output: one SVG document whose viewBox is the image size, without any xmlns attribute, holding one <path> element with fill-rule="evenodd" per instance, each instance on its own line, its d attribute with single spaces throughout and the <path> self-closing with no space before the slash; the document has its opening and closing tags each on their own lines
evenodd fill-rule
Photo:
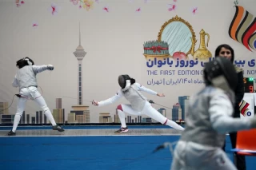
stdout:
<svg viewBox="0 0 256 170">
<path fill-rule="evenodd" d="M 72 105 L 72 110 L 66 112 L 66 109 L 62 108 L 62 98 L 56 98 L 56 107 L 51 110 L 54 120 L 58 124 L 83 124 L 83 123 L 92 123 L 90 122 L 90 109 L 88 105 L 83 105 L 83 68 L 82 61 L 86 56 L 86 51 L 82 47 L 81 41 L 81 28 L 79 22 L 79 32 L 78 32 L 78 46 L 74 50 L 74 57 L 78 60 L 78 84 L 77 84 L 77 105 Z M 173 109 L 166 111 L 166 109 L 158 109 L 158 112 L 161 113 L 164 117 L 176 121 L 184 122 L 186 107 L 188 105 L 189 97 L 178 97 L 178 102 L 173 105 Z M 0 101 L 0 124 L 13 124 L 15 113 L 10 113 L 8 102 Z M 2 111 L 3 110 L 3 111 Z M 1 112 L 2 111 L 2 112 Z M 110 113 L 98 113 L 98 123 L 120 123 L 117 109 L 115 109 L 114 115 Z M 66 117 L 65 117 L 66 116 Z M 94 122 L 97 123 L 97 122 Z M 126 123 L 157 123 L 154 119 L 145 116 L 133 116 L 126 114 Z M 20 124 L 50 124 L 50 121 L 46 119 L 46 116 L 43 114 L 42 110 L 38 109 L 35 113 L 22 113 L 22 118 Z"/>
</svg>

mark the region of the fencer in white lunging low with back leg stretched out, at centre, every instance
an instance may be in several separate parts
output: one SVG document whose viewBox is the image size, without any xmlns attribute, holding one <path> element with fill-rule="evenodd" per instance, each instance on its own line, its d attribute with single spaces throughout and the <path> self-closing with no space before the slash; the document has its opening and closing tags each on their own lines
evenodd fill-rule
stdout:
<svg viewBox="0 0 256 170">
<path fill-rule="evenodd" d="M 156 109 L 150 105 L 150 102 L 146 100 L 146 97 L 140 93 L 140 91 L 144 91 L 146 93 L 150 93 L 152 95 L 157 95 L 158 97 L 164 97 L 164 94 L 159 94 L 154 92 L 151 89 L 147 89 L 146 87 L 135 82 L 133 78 L 130 78 L 129 75 L 120 75 L 118 77 L 118 83 L 122 89 L 118 90 L 118 93 L 114 95 L 114 97 L 110 97 L 105 101 L 93 101 L 94 105 L 104 106 L 110 105 L 115 101 L 118 101 L 121 97 L 125 97 L 127 101 L 130 101 L 130 105 L 118 105 L 118 117 L 121 121 L 122 127 L 115 132 L 128 132 L 128 128 L 126 126 L 126 116 L 125 113 L 130 115 L 142 115 L 145 114 L 148 117 L 153 118 L 155 121 L 162 123 L 163 125 L 168 125 L 172 128 L 176 128 L 178 130 L 183 130 L 184 128 L 174 121 L 170 121 L 166 117 L 162 116 Z"/>
</svg>

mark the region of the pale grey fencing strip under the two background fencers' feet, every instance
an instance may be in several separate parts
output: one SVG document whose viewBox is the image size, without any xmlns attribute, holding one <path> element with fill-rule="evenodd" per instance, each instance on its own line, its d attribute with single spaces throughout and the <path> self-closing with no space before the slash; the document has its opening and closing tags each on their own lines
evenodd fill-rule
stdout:
<svg viewBox="0 0 256 170">
<path fill-rule="evenodd" d="M 16 136 L 170 136 L 180 135 L 181 131 L 173 128 L 130 128 L 126 133 L 114 133 L 116 129 L 66 129 L 54 130 L 17 130 Z M 7 136 L 10 130 L 0 130 L 0 136 Z"/>
</svg>

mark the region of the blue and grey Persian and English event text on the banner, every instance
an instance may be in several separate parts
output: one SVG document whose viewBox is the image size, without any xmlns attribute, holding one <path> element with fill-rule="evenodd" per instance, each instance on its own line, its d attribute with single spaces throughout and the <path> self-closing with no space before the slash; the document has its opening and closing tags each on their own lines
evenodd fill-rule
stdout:
<svg viewBox="0 0 256 170">
<path fill-rule="evenodd" d="M 214 60 L 210 57 L 209 61 Z M 146 75 L 149 78 L 147 85 L 180 85 L 180 84 L 202 84 L 202 68 L 206 61 L 195 60 L 172 60 L 170 57 L 164 59 L 149 59 L 146 61 Z M 234 61 L 238 67 L 246 68 L 244 70 L 245 77 L 253 77 L 256 83 L 255 59 Z M 159 69 L 161 68 L 161 69 Z M 162 78 L 158 78 L 161 76 Z"/>
</svg>

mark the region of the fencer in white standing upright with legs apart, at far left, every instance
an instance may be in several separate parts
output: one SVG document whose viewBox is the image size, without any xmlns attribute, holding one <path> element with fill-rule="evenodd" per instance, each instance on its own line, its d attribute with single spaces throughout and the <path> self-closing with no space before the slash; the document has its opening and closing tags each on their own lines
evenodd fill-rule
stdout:
<svg viewBox="0 0 256 170">
<path fill-rule="evenodd" d="M 18 109 L 17 113 L 14 117 L 14 125 L 12 130 L 8 133 L 9 136 L 16 135 L 16 128 L 18 127 L 18 123 L 22 117 L 22 113 L 25 109 L 26 101 L 33 100 L 35 101 L 42 109 L 43 113 L 46 115 L 48 120 L 50 121 L 53 130 L 58 130 L 59 132 L 63 132 L 64 129 L 58 125 L 54 121 L 54 117 L 50 112 L 50 109 L 46 105 L 46 101 L 42 97 L 42 95 L 38 92 L 38 83 L 36 75 L 45 71 L 47 69 L 53 70 L 53 65 L 34 65 L 34 61 L 29 57 L 22 58 L 17 61 L 16 66 L 18 67 L 18 72 L 14 77 L 14 81 L 12 85 L 14 87 L 19 88 L 19 97 L 18 99 Z"/>
</svg>

